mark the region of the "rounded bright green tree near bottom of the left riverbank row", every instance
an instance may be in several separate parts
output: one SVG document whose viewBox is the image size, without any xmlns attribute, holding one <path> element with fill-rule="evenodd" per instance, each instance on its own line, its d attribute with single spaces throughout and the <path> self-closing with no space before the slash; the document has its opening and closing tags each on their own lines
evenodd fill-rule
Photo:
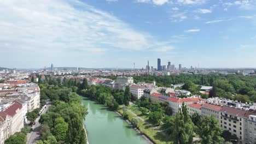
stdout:
<svg viewBox="0 0 256 144">
<path fill-rule="evenodd" d="M 68 124 L 62 117 L 56 118 L 54 121 L 53 135 L 57 141 L 65 141 Z"/>
</svg>

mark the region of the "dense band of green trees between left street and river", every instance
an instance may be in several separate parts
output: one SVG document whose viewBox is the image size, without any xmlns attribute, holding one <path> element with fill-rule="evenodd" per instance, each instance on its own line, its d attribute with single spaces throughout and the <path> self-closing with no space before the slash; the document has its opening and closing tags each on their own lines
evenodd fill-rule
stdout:
<svg viewBox="0 0 256 144">
<path fill-rule="evenodd" d="M 46 77 L 39 83 L 41 100 L 51 99 L 52 106 L 39 122 L 41 140 L 37 143 L 86 143 L 83 120 L 87 110 L 77 94 L 80 84 L 73 79 Z"/>
</svg>

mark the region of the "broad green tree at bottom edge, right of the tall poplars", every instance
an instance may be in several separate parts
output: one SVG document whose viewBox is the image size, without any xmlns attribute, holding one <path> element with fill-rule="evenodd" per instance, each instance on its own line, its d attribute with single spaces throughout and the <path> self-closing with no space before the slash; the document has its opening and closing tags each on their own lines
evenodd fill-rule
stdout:
<svg viewBox="0 0 256 144">
<path fill-rule="evenodd" d="M 222 129 L 213 115 L 202 119 L 199 127 L 199 136 L 202 144 L 222 143 L 224 139 L 220 136 L 221 134 Z"/>
</svg>

